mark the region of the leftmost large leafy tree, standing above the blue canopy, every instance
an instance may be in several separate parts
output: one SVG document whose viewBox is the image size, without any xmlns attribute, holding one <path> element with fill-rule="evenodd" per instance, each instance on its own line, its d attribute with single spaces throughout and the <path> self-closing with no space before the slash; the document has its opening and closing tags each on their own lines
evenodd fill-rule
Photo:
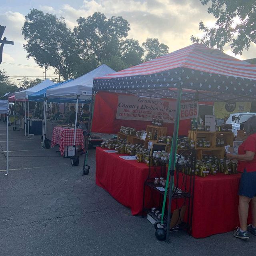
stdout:
<svg viewBox="0 0 256 256">
<path fill-rule="evenodd" d="M 23 46 L 27 58 L 33 58 L 40 67 L 54 67 L 56 73 L 68 80 L 79 56 L 74 34 L 64 19 L 32 9 L 25 16 L 22 34 L 27 40 Z"/>
</svg>

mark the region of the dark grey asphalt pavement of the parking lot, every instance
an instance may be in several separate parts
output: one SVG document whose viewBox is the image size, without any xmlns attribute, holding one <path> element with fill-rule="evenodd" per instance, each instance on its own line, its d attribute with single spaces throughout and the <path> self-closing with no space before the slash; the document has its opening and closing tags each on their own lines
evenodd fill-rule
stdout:
<svg viewBox="0 0 256 256">
<path fill-rule="evenodd" d="M 83 156 L 72 167 L 58 146 L 43 150 L 40 136 L 9 131 L 5 175 L 6 124 L 0 122 L 0 256 L 255 255 L 252 235 L 248 241 L 231 232 L 196 239 L 179 231 L 169 244 L 156 240 L 146 218 L 132 216 L 96 186 L 95 150 L 89 151 L 90 174 L 82 176 Z"/>
</svg>

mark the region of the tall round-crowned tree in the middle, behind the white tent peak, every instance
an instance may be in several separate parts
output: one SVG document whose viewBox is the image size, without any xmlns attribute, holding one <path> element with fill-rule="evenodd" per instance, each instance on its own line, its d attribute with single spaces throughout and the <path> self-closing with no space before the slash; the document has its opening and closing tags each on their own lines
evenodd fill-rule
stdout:
<svg viewBox="0 0 256 256">
<path fill-rule="evenodd" d="M 100 63 L 114 55 L 120 55 L 120 44 L 130 30 L 127 20 L 115 16 L 107 19 L 100 12 L 87 18 L 80 17 L 77 24 L 74 34 L 80 45 L 82 58 L 94 55 Z"/>
</svg>

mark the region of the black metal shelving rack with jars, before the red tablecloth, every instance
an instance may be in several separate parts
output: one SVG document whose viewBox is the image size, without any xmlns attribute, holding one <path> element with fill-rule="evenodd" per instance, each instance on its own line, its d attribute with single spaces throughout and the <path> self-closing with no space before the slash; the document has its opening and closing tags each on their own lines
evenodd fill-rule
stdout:
<svg viewBox="0 0 256 256">
<path fill-rule="evenodd" d="M 187 161 L 182 163 L 182 158 L 186 158 Z M 168 161 L 160 160 L 150 156 L 151 163 L 153 165 L 149 166 L 148 177 L 144 182 L 143 191 L 143 211 L 146 212 L 152 219 L 159 221 L 160 219 L 151 212 L 151 208 L 147 208 L 145 205 L 145 189 L 150 188 L 151 191 L 151 202 L 153 202 L 154 207 L 162 212 L 162 204 L 164 198 L 164 191 L 160 191 L 157 187 L 162 185 L 154 184 L 154 177 L 164 177 L 166 179 Z M 156 166 L 156 160 L 160 162 L 160 167 Z M 195 182 L 195 164 L 196 164 L 196 150 L 187 149 L 181 152 L 176 163 L 176 172 L 174 174 L 174 189 L 172 193 L 172 202 L 174 208 L 177 209 L 176 213 L 171 214 L 171 226 L 170 231 L 176 230 L 187 230 L 191 234 L 192 227 L 192 213 L 193 213 L 193 195 L 194 195 L 194 182 Z M 167 181 L 166 181 L 167 182 Z M 153 193 L 158 192 L 159 199 L 158 202 L 154 202 Z M 167 198 L 169 198 L 169 188 L 167 191 Z M 174 209 L 174 210 L 175 210 Z M 184 214 L 184 209 L 186 214 Z M 178 212 L 178 216 L 177 216 Z M 185 217 L 186 216 L 186 217 Z M 172 218 L 174 222 L 172 221 Z M 175 221 L 176 220 L 176 221 Z M 167 222 L 167 209 L 164 212 L 164 222 Z M 163 224 L 164 226 L 165 224 Z M 164 226 L 166 228 L 166 225 Z"/>
</svg>

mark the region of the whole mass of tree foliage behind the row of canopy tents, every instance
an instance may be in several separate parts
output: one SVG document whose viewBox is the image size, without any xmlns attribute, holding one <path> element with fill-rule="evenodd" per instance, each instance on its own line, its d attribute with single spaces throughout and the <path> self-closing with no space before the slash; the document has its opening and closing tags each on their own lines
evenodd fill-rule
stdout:
<svg viewBox="0 0 256 256">
<path fill-rule="evenodd" d="M 138 40 L 127 38 L 129 31 L 130 24 L 124 18 L 107 18 L 100 12 L 78 18 L 77 26 L 70 30 L 64 18 L 37 9 L 30 10 L 22 27 L 27 57 L 41 67 L 54 67 L 64 80 L 82 76 L 101 64 L 118 71 L 168 52 L 168 46 L 157 38 L 148 38 L 140 46 Z"/>
</svg>

